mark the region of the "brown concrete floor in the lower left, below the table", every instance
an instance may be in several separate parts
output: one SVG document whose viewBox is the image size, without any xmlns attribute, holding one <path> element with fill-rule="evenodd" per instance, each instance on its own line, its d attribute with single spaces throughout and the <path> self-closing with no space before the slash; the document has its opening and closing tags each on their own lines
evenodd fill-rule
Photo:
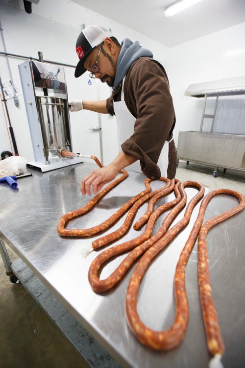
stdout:
<svg viewBox="0 0 245 368">
<path fill-rule="evenodd" d="M 9 281 L 1 259 L 0 285 L 0 368 L 88 367 L 25 287 Z"/>
</svg>

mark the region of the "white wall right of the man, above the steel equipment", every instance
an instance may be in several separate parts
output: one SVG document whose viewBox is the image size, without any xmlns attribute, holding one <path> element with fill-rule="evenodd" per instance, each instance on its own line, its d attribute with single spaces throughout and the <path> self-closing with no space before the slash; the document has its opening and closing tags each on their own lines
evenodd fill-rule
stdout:
<svg viewBox="0 0 245 368">
<path fill-rule="evenodd" d="M 245 23 L 183 43 L 170 50 L 169 79 L 178 132 L 199 130 L 204 98 L 184 96 L 192 83 L 245 75 Z"/>
</svg>

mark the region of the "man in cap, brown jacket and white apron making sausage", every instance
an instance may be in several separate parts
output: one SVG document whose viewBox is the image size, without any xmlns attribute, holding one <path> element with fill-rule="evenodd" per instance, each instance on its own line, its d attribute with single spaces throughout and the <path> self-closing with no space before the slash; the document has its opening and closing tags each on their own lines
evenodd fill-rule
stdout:
<svg viewBox="0 0 245 368">
<path fill-rule="evenodd" d="M 102 101 L 69 101 L 70 111 L 81 109 L 116 115 L 119 155 L 106 167 L 94 170 L 81 182 L 82 195 L 97 193 L 125 167 L 147 177 L 173 178 L 176 148 L 175 124 L 169 82 L 163 66 L 152 53 L 128 38 L 120 45 L 107 29 L 90 25 L 82 30 L 76 52 L 75 77 L 86 71 L 113 87 Z"/>
</svg>

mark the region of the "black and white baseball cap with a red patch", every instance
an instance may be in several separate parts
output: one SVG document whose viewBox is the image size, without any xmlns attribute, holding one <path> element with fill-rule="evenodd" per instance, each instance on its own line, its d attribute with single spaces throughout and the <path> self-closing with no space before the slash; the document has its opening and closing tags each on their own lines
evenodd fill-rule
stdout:
<svg viewBox="0 0 245 368">
<path fill-rule="evenodd" d="M 86 72 L 84 63 L 87 57 L 106 37 L 112 37 L 112 33 L 100 25 L 88 25 L 81 31 L 76 41 L 76 53 L 80 59 L 74 73 L 76 78 Z"/>
</svg>

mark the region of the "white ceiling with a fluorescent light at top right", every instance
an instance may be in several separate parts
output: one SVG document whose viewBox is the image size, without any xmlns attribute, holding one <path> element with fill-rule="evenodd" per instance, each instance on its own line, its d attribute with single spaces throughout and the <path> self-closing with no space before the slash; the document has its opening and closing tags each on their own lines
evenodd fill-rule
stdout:
<svg viewBox="0 0 245 368">
<path fill-rule="evenodd" d="M 245 0 L 202 0 L 170 18 L 163 8 L 174 0 L 76 2 L 169 47 L 245 22 Z"/>
</svg>

